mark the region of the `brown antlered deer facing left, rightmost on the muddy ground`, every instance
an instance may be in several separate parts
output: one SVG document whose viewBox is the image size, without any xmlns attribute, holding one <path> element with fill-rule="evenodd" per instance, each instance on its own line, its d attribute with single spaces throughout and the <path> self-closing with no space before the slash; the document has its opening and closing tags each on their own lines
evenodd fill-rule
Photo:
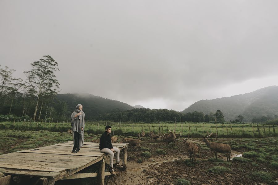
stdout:
<svg viewBox="0 0 278 185">
<path fill-rule="evenodd" d="M 224 144 L 224 143 L 217 143 L 217 142 L 209 142 L 208 138 L 212 135 L 204 137 L 201 139 L 201 141 L 204 141 L 206 145 L 212 150 L 215 154 L 216 160 L 217 160 L 217 152 L 225 154 L 227 157 L 227 161 L 230 161 L 230 155 L 231 155 L 231 147 L 230 145 Z"/>
</svg>

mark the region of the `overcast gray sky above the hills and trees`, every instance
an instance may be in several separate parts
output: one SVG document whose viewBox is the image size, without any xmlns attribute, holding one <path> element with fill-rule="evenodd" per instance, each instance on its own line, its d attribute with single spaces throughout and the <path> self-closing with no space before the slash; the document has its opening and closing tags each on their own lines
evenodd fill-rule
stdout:
<svg viewBox="0 0 278 185">
<path fill-rule="evenodd" d="M 61 93 L 181 111 L 278 85 L 278 1 L 0 1 L 0 64 L 58 62 Z M 82 102 L 81 102 L 82 103 Z"/>
</svg>

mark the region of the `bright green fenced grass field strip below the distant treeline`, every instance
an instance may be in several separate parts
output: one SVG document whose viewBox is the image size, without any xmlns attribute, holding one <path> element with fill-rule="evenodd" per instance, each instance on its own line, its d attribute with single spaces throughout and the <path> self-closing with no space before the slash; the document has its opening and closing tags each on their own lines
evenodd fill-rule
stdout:
<svg viewBox="0 0 278 185">
<path fill-rule="evenodd" d="M 111 125 L 112 132 L 120 135 L 121 133 L 130 133 L 136 136 L 143 129 L 146 133 L 167 133 L 169 130 L 176 130 L 176 133 L 182 132 L 183 136 L 188 134 L 191 137 L 202 137 L 207 132 L 217 133 L 218 137 L 271 137 L 277 136 L 277 125 L 250 125 L 250 124 L 215 124 L 210 123 L 116 123 L 111 121 L 86 122 L 85 132 L 92 134 L 103 133 L 105 126 Z M 159 127 L 160 126 L 160 127 Z M 159 132 L 160 128 L 160 132 Z M 48 130 L 53 132 L 66 132 L 71 129 L 70 123 L 37 123 L 37 122 L 0 122 L 0 129 L 14 130 Z"/>
</svg>

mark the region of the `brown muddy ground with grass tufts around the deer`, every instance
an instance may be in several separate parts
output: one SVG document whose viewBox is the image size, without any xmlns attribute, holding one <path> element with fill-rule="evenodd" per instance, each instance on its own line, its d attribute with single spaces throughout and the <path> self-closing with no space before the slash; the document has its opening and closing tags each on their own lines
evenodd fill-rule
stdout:
<svg viewBox="0 0 278 185">
<path fill-rule="evenodd" d="M 127 171 L 118 171 L 114 177 L 107 176 L 105 184 L 170 185 L 188 184 L 188 182 L 190 184 L 278 184 L 277 167 L 271 165 L 273 160 L 277 160 L 277 137 L 218 138 L 218 142 L 240 146 L 237 150 L 232 150 L 233 158 L 241 156 L 247 151 L 257 151 L 264 154 L 261 157 L 249 157 L 248 162 L 236 160 L 226 162 L 224 154 L 218 154 L 218 158 L 222 160 L 216 161 L 214 153 L 204 142 L 200 141 L 200 138 L 190 138 L 190 140 L 199 147 L 196 166 L 188 160 L 187 147 L 183 144 L 182 138 L 176 142 L 175 147 L 172 147 L 171 144 L 166 146 L 163 142 L 154 142 L 150 138 L 145 138 L 141 143 L 141 149 L 128 148 Z M 158 153 L 156 149 L 163 149 L 166 154 Z M 150 158 L 142 156 L 142 152 L 146 150 L 152 154 Z M 138 161 L 139 158 L 142 159 L 142 163 L 138 163 L 141 162 Z M 213 167 L 217 167 L 217 169 L 209 171 Z M 258 173 L 262 173 L 262 175 L 258 175 Z"/>
</svg>

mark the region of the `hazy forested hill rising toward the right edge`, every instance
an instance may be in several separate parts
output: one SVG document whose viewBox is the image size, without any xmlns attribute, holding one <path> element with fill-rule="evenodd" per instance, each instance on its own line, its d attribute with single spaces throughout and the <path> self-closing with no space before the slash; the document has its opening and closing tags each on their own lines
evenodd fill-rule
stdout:
<svg viewBox="0 0 278 185">
<path fill-rule="evenodd" d="M 222 111 L 226 121 L 235 120 L 239 115 L 244 117 L 243 121 L 252 121 L 254 118 L 259 121 L 261 117 L 275 118 L 278 115 L 278 86 L 231 97 L 197 101 L 182 113 L 199 111 L 209 114 L 215 113 L 217 109 Z"/>
</svg>

